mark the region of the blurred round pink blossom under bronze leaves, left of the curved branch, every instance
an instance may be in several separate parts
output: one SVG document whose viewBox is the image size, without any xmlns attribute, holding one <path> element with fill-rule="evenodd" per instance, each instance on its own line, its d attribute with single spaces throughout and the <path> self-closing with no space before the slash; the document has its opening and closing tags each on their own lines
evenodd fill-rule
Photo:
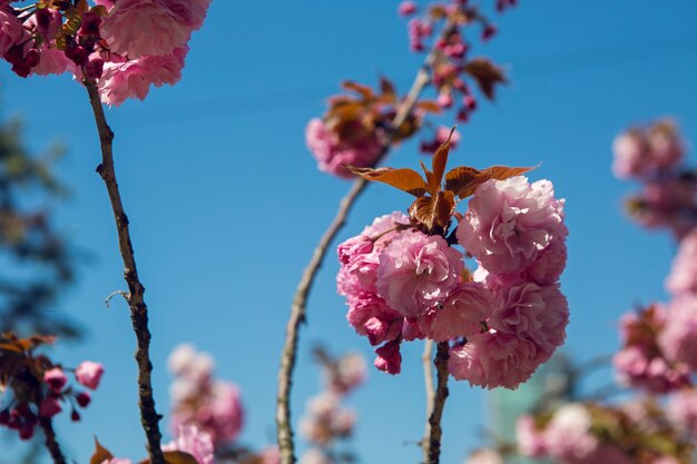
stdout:
<svg viewBox="0 0 697 464">
<path fill-rule="evenodd" d="M 344 167 L 371 166 L 383 152 L 379 131 L 365 128 L 360 121 L 347 124 L 341 134 L 322 119 L 312 119 L 305 129 L 307 148 L 318 162 L 320 170 L 351 179 L 354 175 Z"/>
</svg>

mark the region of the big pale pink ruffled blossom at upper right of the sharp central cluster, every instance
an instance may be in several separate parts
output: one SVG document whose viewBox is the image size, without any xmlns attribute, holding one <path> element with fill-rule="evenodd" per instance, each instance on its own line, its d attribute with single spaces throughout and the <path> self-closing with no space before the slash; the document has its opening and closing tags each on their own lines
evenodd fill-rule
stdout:
<svg viewBox="0 0 697 464">
<path fill-rule="evenodd" d="M 563 204 L 548 180 L 489 180 L 474 191 L 458 226 L 458 240 L 488 272 L 519 276 L 552 241 L 568 235 Z"/>
</svg>

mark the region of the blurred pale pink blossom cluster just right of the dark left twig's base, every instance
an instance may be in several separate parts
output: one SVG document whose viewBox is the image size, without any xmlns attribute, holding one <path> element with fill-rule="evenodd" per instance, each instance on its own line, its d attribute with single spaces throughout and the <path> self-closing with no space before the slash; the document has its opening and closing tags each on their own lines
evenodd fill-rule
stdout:
<svg viewBox="0 0 697 464">
<path fill-rule="evenodd" d="M 179 345 L 169 356 L 169 371 L 175 375 L 171 428 L 195 425 L 210 436 L 217 447 L 239 434 L 244 409 L 237 387 L 213 376 L 213 358 L 188 344 Z"/>
</svg>

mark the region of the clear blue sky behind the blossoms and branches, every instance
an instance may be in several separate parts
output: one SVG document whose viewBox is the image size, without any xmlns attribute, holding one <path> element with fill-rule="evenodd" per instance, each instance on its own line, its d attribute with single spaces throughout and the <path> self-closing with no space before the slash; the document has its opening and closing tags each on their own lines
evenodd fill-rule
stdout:
<svg viewBox="0 0 697 464">
<path fill-rule="evenodd" d="M 625 126 L 671 115 L 697 140 L 697 3 L 691 0 L 522 0 L 499 18 L 500 34 L 477 52 L 505 63 L 511 85 L 461 127 L 453 162 L 530 166 L 567 198 L 569 265 L 562 288 L 571 324 L 565 349 L 580 358 L 617 346 L 616 318 L 635 302 L 662 298 L 675 246 L 639 230 L 620 213 L 631 186 L 612 178 L 610 144 Z M 214 1 L 192 43 L 184 78 L 145 102 L 108 111 L 117 170 L 151 314 L 157 405 L 166 412 L 164 361 L 189 340 L 210 352 L 219 376 L 240 385 L 247 408 L 242 440 L 274 437 L 276 371 L 300 274 L 348 184 L 316 170 L 304 144 L 306 121 L 345 78 L 411 82 L 421 57 L 408 51 L 397 1 Z M 20 79 L 0 67 L 6 115 L 21 115 L 39 149 L 61 140 L 60 175 L 73 189 L 59 225 L 89 259 L 60 302 L 88 338 L 59 346 L 67 364 L 107 366 L 104 385 L 75 426 L 58 419 L 69 456 L 85 463 L 92 434 L 115 453 L 144 456 L 136 408 L 135 338 L 127 306 L 104 299 L 124 289 L 104 185 L 95 174 L 98 140 L 84 89 L 67 76 Z M 450 125 L 451 119 L 443 120 Z M 390 158 L 415 166 L 415 146 Z M 693 157 L 694 159 L 694 157 Z M 304 206 L 298 206 L 304 201 Z M 342 235 L 409 198 L 373 186 Z M 314 342 L 363 352 L 345 322 L 330 257 L 310 302 L 293 396 L 295 417 L 320 383 Z M 365 463 L 421 458 L 411 444 L 423 431 L 421 345 L 404 352 L 396 377 L 371 369 L 352 397 L 360 409 L 354 447 Z M 484 406 L 482 406 L 484 405 Z M 485 395 L 452 384 L 444 417 L 443 462 L 461 462 L 478 442 Z M 0 456 L 1 457 L 1 456 Z"/>
</svg>

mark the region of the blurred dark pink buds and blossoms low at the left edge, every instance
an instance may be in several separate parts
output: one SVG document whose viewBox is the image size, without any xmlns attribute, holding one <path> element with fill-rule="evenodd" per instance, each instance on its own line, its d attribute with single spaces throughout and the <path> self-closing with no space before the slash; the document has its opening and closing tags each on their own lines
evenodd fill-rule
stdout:
<svg viewBox="0 0 697 464">
<path fill-rule="evenodd" d="M 7 393 L 3 403 L 7 405 L 0 411 L 0 426 L 17 431 L 21 440 L 31 438 L 39 421 L 51 418 L 60 413 L 65 403 L 70 404 L 72 409 L 70 418 L 77 422 L 80 419 L 77 407 L 85 408 L 91 402 L 88 392 L 68 385 L 68 376 L 62 367 L 40 364 L 43 368 L 39 373 L 29 371 L 19 373 L 18 378 L 4 386 Z M 78 384 L 89 389 L 97 389 L 104 374 L 104 366 L 85 361 L 73 371 L 73 374 Z M 35 375 L 41 378 L 35 379 Z M 11 396 L 10 393 L 13 395 Z"/>
</svg>

